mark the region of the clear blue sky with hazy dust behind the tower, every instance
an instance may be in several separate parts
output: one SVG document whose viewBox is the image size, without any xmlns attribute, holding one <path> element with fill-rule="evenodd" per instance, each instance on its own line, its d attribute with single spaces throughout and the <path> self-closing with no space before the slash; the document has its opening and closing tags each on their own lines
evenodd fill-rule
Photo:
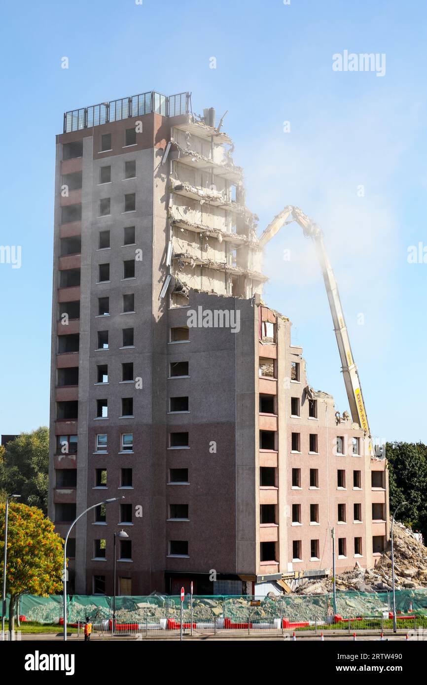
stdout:
<svg viewBox="0 0 427 685">
<path fill-rule="evenodd" d="M 0 433 L 49 419 L 62 114 L 153 89 L 192 91 L 195 112 L 229 110 L 223 128 L 245 168 L 260 230 L 287 204 L 321 225 L 371 431 L 427 442 L 427 264 L 407 261 L 409 246 L 427 245 L 425 3 L 8 0 L 1 14 L 0 244 L 21 245 L 22 266 L 0 264 Z M 384 53 L 385 75 L 333 71 L 332 55 L 344 50 Z M 69 69 L 61 68 L 64 56 Z M 265 271 L 265 301 L 293 321 L 310 384 L 343 411 L 326 293 L 300 229 L 283 229 L 270 243 Z"/>
</svg>

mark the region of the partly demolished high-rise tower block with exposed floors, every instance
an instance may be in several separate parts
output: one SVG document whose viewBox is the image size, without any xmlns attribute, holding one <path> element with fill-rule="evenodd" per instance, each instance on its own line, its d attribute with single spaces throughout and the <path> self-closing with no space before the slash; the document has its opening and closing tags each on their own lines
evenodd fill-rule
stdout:
<svg viewBox="0 0 427 685">
<path fill-rule="evenodd" d="M 148 92 L 57 136 L 49 515 L 71 588 L 252 593 L 373 566 L 387 471 L 307 384 L 215 112 Z"/>
</svg>

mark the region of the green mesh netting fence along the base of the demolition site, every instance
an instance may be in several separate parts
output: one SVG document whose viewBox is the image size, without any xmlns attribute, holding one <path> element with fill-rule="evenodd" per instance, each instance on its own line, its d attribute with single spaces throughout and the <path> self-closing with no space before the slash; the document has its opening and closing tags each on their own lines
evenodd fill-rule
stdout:
<svg viewBox="0 0 427 685">
<path fill-rule="evenodd" d="M 414 614 L 427 615 L 427 590 L 398 590 L 395 593 L 396 610 L 407 614 L 411 608 Z M 69 623 L 110 619 L 112 597 L 96 595 L 70 595 L 67 601 Z M 215 619 L 230 619 L 232 623 L 273 623 L 274 619 L 285 618 L 291 622 L 325 621 L 332 614 L 333 599 L 329 595 L 282 595 L 249 597 L 246 595 L 195 595 L 193 597 L 193 621 L 213 623 Z M 337 592 L 337 614 L 343 618 L 357 616 L 378 616 L 393 606 L 391 593 Z M 27 621 L 58 623 L 63 615 L 62 595 L 34 597 L 23 595 L 19 613 Z M 190 597 L 183 603 L 184 621 L 191 616 Z M 179 622 L 180 597 L 150 595 L 149 597 L 116 597 L 116 619 L 121 623 L 160 623 L 160 619 L 175 619 Z"/>
</svg>

